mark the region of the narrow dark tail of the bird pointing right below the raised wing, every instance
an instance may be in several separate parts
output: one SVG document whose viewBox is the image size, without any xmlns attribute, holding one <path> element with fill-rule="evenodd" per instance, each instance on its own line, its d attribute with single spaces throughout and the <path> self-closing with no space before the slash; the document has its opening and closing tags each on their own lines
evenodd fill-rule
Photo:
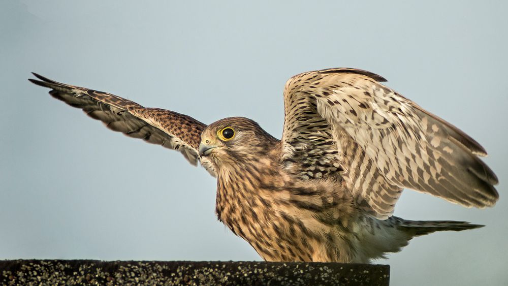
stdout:
<svg viewBox="0 0 508 286">
<path fill-rule="evenodd" d="M 454 220 L 406 220 L 400 217 L 393 217 L 397 220 L 398 229 L 410 234 L 411 236 L 420 236 L 436 231 L 463 231 L 483 228 L 483 225 L 473 225 L 467 221 Z"/>
</svg>

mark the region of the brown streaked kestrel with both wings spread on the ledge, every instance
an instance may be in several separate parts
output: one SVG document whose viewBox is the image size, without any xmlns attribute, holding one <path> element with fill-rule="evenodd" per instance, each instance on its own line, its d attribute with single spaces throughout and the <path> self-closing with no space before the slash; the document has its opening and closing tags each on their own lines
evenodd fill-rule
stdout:
<svg viewBox="0 0 508 286">
<path fill-rule="evenodd" d="M 217 180 L 218 220 L 265 261 L 371 263 L 417 236 L 483 227 L 394 216 L 404 188 L 464 207 L 499 198 L 477 141 L 368 71 L 291 77 L 281 139 L 245 117 L 206 125 L 33 74 L 29 81 L 109 129 L 199 162 Z"/>
</svg>

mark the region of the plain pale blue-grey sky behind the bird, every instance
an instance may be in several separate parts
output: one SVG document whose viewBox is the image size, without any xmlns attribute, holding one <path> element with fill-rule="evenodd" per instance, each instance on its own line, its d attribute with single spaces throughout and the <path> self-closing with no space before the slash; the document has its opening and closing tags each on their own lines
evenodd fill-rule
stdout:
<svg viewBox="0 0 508 286">
<path fill-rule="evenodd" d="M 489 152 L 501 200 L 466 209 L 406 191 L 395 214 L 487 225 L 390 255 L 393 285 L 508 281 L 506 2 L 0 2 L 0 259 L 260 260 L 214 214 L 215 180 L 114 133 L 26 79 L 110 91 L 275 137 L 290 76 L 356 67 Z"/>
</svg>

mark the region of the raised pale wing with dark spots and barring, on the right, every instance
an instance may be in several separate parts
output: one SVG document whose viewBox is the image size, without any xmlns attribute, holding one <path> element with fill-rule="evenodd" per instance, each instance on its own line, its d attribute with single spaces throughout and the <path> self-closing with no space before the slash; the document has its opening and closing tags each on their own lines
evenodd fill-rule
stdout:
<svg viewBox="0 0 508 286">
<path fill-rule="evenodd" d="M 329 69 L 292 77 L 284 90 L 282 160 L 303 178 L 340 172 L 379 218 L 402 188 L 466 207 L 493 206 L 498 180 L 485 150 L 452 124 L 382 85 L 375 74 Z"/>
</svg>

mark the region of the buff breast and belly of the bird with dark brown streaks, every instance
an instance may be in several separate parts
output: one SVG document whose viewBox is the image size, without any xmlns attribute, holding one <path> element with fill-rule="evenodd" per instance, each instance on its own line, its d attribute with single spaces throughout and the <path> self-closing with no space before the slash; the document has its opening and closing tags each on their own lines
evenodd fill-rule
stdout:
<svg viewBox="0 0 508 286">
<path fill-rule="evenodd" d="M 351 215 L 351 203 L 336 188 L 256 171 L 219 174 L 216 213 L 267 261 L 335 261 L 339 254 L 327 241 L 347 236 L 339 232 Z"/>
</svg>

